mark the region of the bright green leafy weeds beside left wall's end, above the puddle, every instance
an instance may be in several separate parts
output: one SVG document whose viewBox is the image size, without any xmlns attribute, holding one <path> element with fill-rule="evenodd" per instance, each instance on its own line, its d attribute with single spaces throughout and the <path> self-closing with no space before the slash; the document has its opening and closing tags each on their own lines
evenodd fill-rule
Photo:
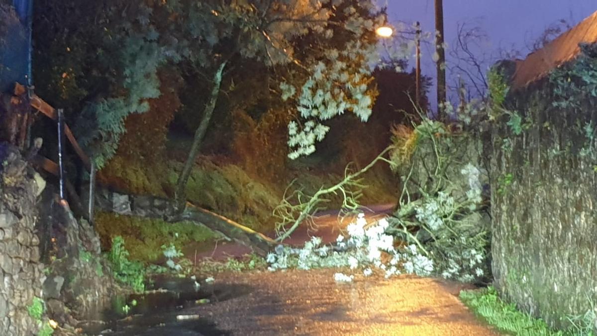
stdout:
<svg viewBox="0 0 597 336">
<path fill-rule="evenodd" d="M 107 259 L 112 263 L 113 276 L 136 292 L 143 292 L 145 289 L 145 269 L 139 261 L 130 261 L 128 251 L 124 247 L 124 239 L 116 236 L 112 239 L 112 248 L 108 252 Z"/>
</svg>

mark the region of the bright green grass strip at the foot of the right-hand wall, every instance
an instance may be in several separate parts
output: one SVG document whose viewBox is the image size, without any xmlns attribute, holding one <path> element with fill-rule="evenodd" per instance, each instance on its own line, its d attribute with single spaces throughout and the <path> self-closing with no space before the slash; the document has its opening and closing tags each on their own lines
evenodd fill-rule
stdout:
<svg viewBox="0 0 597 336">
<path fill-rule="evenodd" d="M 541 319 L 516 309 L 513 303 L 505 303 L 498 297 L 496 289 L 488 287 L 475 291 L 461 291 L 460 300 L 476 315 L 481 316 L 491 326 L 506 335 L 517 336 L 593 336 L 590 322 L 571 317 L 573 328 L 567 331 L 555 331 Z M 588 322 L 588 323 L 587 323 Z M 591 321 L 592 322 L 592 321 Z"/>
</svg>

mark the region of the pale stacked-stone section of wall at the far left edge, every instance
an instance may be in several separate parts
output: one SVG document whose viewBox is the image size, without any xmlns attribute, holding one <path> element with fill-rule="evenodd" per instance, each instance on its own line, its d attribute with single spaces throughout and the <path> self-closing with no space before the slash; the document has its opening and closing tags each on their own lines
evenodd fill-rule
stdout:
<svg viewBox="0 0 597 336">
<path fill-rule="evenodd" d="M 41 188 L 13 147 L 0 143 L 0 163 L 0 335 L 33 335 L 42 321 L 27 307 L 42 297 L 45 279 L 34 231 Z"/>
</svg>

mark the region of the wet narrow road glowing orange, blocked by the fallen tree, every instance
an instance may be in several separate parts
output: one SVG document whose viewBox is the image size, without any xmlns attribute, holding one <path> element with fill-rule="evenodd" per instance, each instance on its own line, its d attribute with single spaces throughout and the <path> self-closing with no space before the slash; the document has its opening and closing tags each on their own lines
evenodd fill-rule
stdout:
<svg viewBox="0 0 597 336">
<path fill-rule="evenodd" d="M 370 208 L 365 213 L 374 221 L 392 207 Z M 316 228 L 297 230 L 287 243 L 300 245 L 311 236 L 331 242 L 349 223 L 338 222 L 336 212 L 319 213 Z M 247 252 L 228 243 L 201 254 L 223 259 Z M 232 335 L 497 335 L 458 300 L 465 285 L 416 276 L 386 280 L 381 274 L 337 283 L 336 272 L 222 273 L 214 284 L 220 294 L 210 304 L 179 314 L 200 316 Z M 226 295 L 226 288 L 239 287 L 248 288 L 244 295 Z"/>
</svg>

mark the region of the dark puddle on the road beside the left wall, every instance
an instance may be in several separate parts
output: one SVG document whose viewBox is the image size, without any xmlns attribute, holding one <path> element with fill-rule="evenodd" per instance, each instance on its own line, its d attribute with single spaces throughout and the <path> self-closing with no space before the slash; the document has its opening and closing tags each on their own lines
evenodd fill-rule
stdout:
<svg viewBox="0 0 597 336">
<path fill-rule="evenodd" d="M 91 321 L 79 325 L 88 335 L 231 335 L 217 329 L 208 319 L 193 317 L 177 320 L 179 314 L 189 308 L 230 300 L 249 294 L 251 288 L 244 285 L 219 285 L 201 282 L 199 289 L 189 278 L 158 277 L 146 294 L 131 294 L 112 298 L 112 307 L 96 311 Z M 128 313 L 126 312 L 128 307 Z"/>
</svg>

